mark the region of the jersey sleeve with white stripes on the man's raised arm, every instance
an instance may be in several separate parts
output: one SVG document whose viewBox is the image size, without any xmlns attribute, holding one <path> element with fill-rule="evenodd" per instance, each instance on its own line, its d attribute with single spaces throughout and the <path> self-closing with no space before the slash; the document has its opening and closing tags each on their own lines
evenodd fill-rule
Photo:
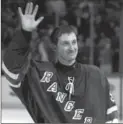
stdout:
<svg viewBox="0 0 123 124">
<path fill-rule="evenodd" d="M 31 33 L 19 30 L 15 33 L 2 60 L 2 70 L 12 87 L 20 87 L 28 65 Z"/>
</svg>

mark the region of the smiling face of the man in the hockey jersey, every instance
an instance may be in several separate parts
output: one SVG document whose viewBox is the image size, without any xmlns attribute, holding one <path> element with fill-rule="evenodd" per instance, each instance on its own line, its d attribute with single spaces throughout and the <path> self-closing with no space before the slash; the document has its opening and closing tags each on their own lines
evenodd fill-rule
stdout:
<svg viewBox="0 0 123 124">
<path fill-rule="evenodd" d="M 78 44 L 75 33 L 64 33 L 58 38 L 57 57 L 59 61 L 75 61 L 78 53 Z"/>
</svg>

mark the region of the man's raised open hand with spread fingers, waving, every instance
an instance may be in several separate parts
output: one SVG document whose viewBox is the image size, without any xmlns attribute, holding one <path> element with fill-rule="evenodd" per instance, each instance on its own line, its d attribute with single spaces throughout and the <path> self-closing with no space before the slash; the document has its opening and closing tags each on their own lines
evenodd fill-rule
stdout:
<svg viewBox="0 0 123 124">
<path fill-rule="evenodd" d="M 18 12 L 21 18 L 21 26 L 25 31 L 33 31 L 39 25 L 39 23 L 43 20 L 44 17 L 40 17 L 35 20 L 35 16 L 38 12 L 38 5 L 35 6 L 33 10 L 33 3 L 27 3 L 25 8 L 25 14 L 22 13 L 22 9 L 18 7 Z"/>
</svg>

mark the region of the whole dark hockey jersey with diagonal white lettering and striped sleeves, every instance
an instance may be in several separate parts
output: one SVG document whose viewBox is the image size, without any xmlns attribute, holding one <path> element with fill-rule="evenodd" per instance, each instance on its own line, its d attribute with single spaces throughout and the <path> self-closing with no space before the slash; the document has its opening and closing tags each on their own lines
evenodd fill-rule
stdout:
<svg viewBox="0 0 123 124">
<path fill-rule="evenodd" d="M 10 86 L 36 123 L 105 123 L 117 106 L 95 66 L 29 59 L 31 33 L 18 31 L 2 62 Z"/>
</svg>

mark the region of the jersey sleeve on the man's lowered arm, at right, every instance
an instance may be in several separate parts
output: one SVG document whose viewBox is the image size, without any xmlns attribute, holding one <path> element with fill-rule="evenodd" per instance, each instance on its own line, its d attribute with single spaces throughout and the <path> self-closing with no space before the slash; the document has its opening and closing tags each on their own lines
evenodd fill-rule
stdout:
<svg viewBox="0 0 123 124">
<path fill-rule="evenodd" d="M 98 72 L 99 80 L 101 83 L 101 88 L 103 88 L 103 91 L 104 91 L 103 94 L 104 94 L 104 104 L 105 104 L 104 105 L 105 122 L 106 123 L 118 123 L 118 107 L 111 93 L 109 81 L 106 78 L 104 72 L 102 72 L 99 68 L 95 66 L 91 66 L 91 68 L 92 67 Z M 96 74 L 96 73 L 93 73 L 93 74 Z"/>
</svg>

